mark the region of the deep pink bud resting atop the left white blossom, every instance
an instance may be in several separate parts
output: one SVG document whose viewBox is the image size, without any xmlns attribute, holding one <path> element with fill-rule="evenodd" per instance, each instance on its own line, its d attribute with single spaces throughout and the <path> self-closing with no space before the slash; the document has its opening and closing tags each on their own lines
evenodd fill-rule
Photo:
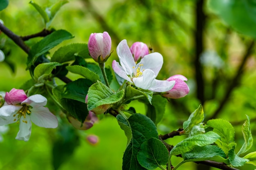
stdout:
<svg viewBox="0 0 256 170">
<path fill-rule="evenodd" d="M 27 95 L 23 90 L 13 88 L 9 93 L 5 93 L 4 99 L 7 104 L 16 105 L 27 99 Z"/>
</svg>

